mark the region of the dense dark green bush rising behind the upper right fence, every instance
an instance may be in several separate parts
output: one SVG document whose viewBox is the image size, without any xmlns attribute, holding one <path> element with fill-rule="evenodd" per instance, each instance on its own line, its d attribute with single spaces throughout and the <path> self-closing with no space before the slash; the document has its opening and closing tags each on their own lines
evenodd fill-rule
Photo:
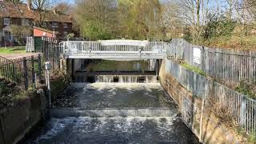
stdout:
<svg viewBox="0 0 256 144">
<path fill-rule="evenodd" d="M 230 37 L 237 22 L 224 16 L 209 15 L 209 22 L 204 31 L 204 38 L 216 38 L 220 36 Z"/>
</svg>

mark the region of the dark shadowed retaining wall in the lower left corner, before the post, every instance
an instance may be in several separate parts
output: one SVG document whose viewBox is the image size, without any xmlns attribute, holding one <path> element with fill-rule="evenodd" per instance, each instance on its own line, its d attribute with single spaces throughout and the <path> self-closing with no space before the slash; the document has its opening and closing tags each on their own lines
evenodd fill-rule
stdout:
<svg viewBox="0 0 256 144">
<path fill-rule="evenodd" d="M 0 116 L 0 143 L 16 143 L 41 120 L 42 96 L 33 94 L 18 100 L 14 106 L 2 110 Z"/>
</svg>

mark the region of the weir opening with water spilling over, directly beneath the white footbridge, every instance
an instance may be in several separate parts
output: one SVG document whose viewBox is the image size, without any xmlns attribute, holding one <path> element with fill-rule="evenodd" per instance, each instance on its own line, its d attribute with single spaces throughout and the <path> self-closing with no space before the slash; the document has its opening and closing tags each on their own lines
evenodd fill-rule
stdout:
<svg viewBox="0 0 256 144">
<path fill-rule="evenodd" d="M 156 60 L 74 60 L 74 82 L 157 82 Z"/>
</svg>

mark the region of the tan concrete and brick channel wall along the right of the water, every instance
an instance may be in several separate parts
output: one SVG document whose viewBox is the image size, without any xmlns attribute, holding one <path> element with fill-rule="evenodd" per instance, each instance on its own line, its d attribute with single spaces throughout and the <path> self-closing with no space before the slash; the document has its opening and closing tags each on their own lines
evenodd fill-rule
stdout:
<svg viewBox="0 0 256 144">
<path fill-rule="evenodd" d="M 208 113 L 202 97 L 195 96 L 190 90 L 182 86 L 168 70 L 166 61 L 162 61 L 160 69 L 160 81 L 162 87 L 170 94 L 170 97 L 178 104 L 179 112 L 186 126 L 193 131 L 203 143 L 240 143 L 244 139 L 235 134 L 213 113 Z M 170 68 L 170 67 L 168 67 Z"/>
</svg>

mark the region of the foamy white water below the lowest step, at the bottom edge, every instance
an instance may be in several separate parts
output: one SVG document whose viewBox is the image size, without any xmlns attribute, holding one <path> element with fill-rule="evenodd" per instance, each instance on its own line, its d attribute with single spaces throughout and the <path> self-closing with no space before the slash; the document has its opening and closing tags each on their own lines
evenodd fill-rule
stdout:
<svg viewBox="0 0 256 144">
<path fill-rule="evenodd" d="M 181 123 L 177 116 L 51 119 L 33 143 L 197 143 Z"/>
</svg>

